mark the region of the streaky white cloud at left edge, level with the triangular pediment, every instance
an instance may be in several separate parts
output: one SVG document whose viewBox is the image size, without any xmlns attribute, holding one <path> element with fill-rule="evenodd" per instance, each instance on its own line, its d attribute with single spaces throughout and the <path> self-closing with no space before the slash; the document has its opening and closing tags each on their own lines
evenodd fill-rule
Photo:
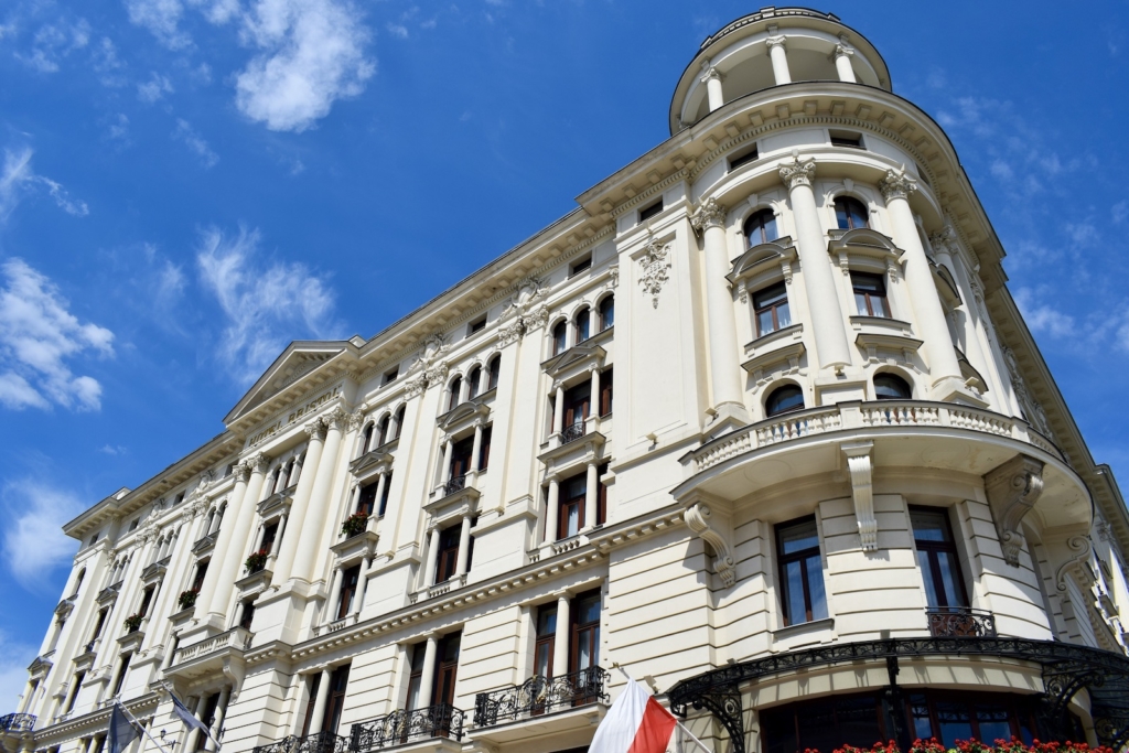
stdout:
<svg viewBox="0 0 1129 753">
<path fill-rule="evenodd" d="M 54 283 L 23 260 L 8 260 L 0 272 L 0 405 L 100 408 L 102 385 L 76 377 L 65 360 L 85 351 L 112 356 L 114 333 L 79 322 Z"/>
</svg>

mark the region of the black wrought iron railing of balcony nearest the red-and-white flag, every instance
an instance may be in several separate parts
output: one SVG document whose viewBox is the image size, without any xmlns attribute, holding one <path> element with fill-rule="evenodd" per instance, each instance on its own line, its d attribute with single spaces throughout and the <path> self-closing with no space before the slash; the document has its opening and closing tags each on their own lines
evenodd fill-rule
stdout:
<svg viewBox="0 0 1129 753">
<path fill-rule="evenodd" d="M 564 708 L 607 701 L 607 671 L 589 667 L 555 677 L 534 676 L 520 685 L 474 697 L 474 725 L 491 727 Z"/>
</svg>

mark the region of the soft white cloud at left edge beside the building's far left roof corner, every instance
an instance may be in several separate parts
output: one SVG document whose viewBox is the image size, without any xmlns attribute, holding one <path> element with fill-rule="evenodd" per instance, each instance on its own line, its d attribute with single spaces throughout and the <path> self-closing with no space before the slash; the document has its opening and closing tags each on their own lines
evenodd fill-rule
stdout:
<svg viewBox="0 0 1129 753">
<path fill-rule="evenodd" d="M 24 588 L 42 588 L 51 571 L 75 555 L 76 543 L 60 526 L 85 506 L 38 479 L 5 484 L 3 504 L 11 522 L 3 532 L 5 563 Z"/>
</svg>

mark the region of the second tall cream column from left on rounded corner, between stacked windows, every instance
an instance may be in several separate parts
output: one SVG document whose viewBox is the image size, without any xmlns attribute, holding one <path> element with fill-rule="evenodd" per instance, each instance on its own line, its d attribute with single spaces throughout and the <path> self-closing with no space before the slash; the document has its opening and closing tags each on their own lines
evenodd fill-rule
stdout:
<svg viewBox="0 0 1129 753">
<path fill-rule="evenodd" d="M 788 186 L 788 199 L 796 219 L 799 263 L 804 270 L 804 291 L 807 294 L 808 315 L 815 333 L 815 350 L 820 368 L 837 371 L 850 364 L 850 350 L 838 305 L 839 294 L 828 261 L 823 225 L 815 208 L 812 176 L 815 160 L 799 160 L 780 165 L 780 178 Z"/>
</svg>

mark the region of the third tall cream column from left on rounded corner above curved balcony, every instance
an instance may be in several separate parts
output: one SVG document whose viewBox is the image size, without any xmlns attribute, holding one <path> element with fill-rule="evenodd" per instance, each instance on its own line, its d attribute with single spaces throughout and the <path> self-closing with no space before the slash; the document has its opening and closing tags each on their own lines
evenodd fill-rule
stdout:
<svg viewBox="0 0 1129 753">
<path fill-rule="evenodd" d="M 909 195 L 917 191 L 917 181 L 907 175 L 902 167 L 899 170 L 886 170 L 886 177 L 878 187 L 886 200 L 894 243 L 905 252 L 905 286 L 909 288 L 917 324 L 921 329 L 918 334 L 925 341 L 931 386 L 936 387 L 949 378 L 960 383 L 961 365 L 956 360 L 953 338 L 929 269 L 929 259 L 925 255 L 921 236 L 918 235 L 913 211 L 910 209 Z"/>
</svg>

